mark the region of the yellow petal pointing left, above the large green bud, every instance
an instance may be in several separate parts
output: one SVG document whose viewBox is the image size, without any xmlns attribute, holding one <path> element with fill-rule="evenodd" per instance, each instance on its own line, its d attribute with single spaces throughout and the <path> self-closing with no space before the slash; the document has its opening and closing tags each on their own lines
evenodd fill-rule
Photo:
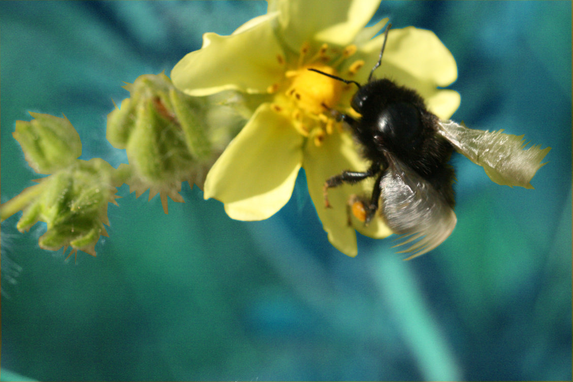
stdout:
<svg viewBox="0 0 573 382">
<path fill-rule="evenodd" d="M 266 93 L 284 74 L 282 48 L 273 33 L 273 15 L 240 27 L 240 33 L 203 35 L 203 48 L 187 54 L 171 70 L 183 92 L 206 96 L 227 89 Z M 277 57 L 281 57 L 280 60 Z"/>
</svg>

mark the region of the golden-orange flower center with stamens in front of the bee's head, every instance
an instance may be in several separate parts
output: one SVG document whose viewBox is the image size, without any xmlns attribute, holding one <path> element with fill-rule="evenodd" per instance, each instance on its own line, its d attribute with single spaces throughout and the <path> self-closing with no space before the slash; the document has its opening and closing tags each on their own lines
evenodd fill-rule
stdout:
<svg viewBox="0 0 573 382">
<path fill-rule="evenodd" d="M 311 137 L 316 145 L 320 145 L 327 135 L 335 131 L 336 125 L 340 126 L 329 111 L 339 105 L 342 93 L 350 87 L 342 81 L 308 69 L 338 76 L 336 68 L 356 52 L 356 46 L 347 46 L 340 52 L 323 44 L 314 56 L 308 58 L 309 50 L 308 44 L 301 47 L 296 69 L 286 70 L 285 81 L 269 86 L 268 92 L 276 94 L 274 111 L 289 117 L 301 135 Z M 335 53 L 337 57 L 333 59 L 328 53 Z M 277 60 L 279 64 L 284 63 L 282 56 L 278 56 Z M 359 69 L 360 62 L 350 65 L 349 75 Z M 281 89 L 286 90 L 283 92 Z"/>
</svg>

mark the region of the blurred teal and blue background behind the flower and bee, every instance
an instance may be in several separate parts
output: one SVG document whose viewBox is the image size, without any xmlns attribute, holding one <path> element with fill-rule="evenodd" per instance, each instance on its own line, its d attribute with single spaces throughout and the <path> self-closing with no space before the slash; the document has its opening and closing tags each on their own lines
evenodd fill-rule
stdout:
<svg viewBox="0 0 573 382">
<path fill-rule="evenodd" d="M 328 2 L 324 2 L 325 11 Z M 32 185 L 12 138 L 28 111 L 64 113 L 83 159 L 113 166 L 107 113 L 206 31 L 265 2 L 0 2 L 2 202 Z M 304 174 L 263 222 L 227 218 L 184 183 L 163 214 L 122 187 L 109 238 L 77 264 L 45 227 L 2 223 L 2 380 L 571 380 L 571 2 L 384 2 L 375 18 L 452 51 L 469 127 L 552 147 L 535 190 L 464 157 L 458 225 L 410 262 L 392 238 L 329 245 Z M 12 374 L 18 373 L 18 375 Z"/>
</svg>

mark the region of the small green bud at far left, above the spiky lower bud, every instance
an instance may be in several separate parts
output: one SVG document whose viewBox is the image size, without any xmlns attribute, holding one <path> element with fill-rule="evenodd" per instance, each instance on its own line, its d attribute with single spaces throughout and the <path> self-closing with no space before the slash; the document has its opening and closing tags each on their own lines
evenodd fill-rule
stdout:
<svg viewBox="0 0 573 382">
<path fill-rule="evenodd" d="M 52 174 L 81 155 L 80 136 L 65 116 L 33 112 L 30 115 L 34 117 L 32 121 L 16 121 L 12 135 L 36 172 Z"/>
</svg>

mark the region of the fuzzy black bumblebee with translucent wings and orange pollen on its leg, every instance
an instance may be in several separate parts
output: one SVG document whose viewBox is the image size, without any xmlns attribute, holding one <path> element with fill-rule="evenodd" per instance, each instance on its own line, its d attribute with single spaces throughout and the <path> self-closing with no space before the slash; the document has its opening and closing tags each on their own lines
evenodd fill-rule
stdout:
<svg viewBox="0 0 573 382">
<path fill-rule="evenodd" d="M 350 127 L 362 156 L 370 163 L 364 172 L 347 170 L 327 179 L 325 207 L 332 207 L 329 188 L 375 178 L 369 197 L 351 196 L 352 212 L 366 224 L 378 212 L 394 233 L 406 238 L 398 245 L 413 242 L 401 251 L 413 253 L 410 259 L 440 245 L 456 226 L 452 187 L 455 174 L 448 163 L 454 150 L 484 167 L 493 182 L 533 188 L 529 182 L 551 148 L 533 145 L 524 149 L 527 143 L 523 136 L 505 134 L 503 130 L 469 129 L 452 120 L 440 120 L 427 110 L 414 89 L 387 78 L 375 79 L 389 29 L 390 25 L 366 84 L 309 70 L 358 86 L 351 107 L 361 117 L 333 113 Z"/>
</svg>

